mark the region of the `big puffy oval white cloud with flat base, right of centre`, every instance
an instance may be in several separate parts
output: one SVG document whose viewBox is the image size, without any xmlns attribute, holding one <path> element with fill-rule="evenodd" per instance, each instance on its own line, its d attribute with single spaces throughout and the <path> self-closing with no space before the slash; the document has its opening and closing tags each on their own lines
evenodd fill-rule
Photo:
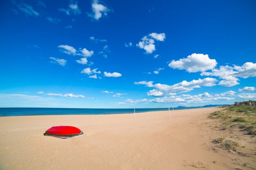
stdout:
<svg viewBox="0 0 256 170">
<path fill-rule="evenodd" d="M 186 58 L 180 60 L 172 60 L 168 66 L 179 70 L 186 70 L 189 73 L 195 73 L 199 71 L 207 71 L 213 69 L 217 65 L 215 59 L 210 59 L 208 54 L 196 54 L 193 53 Z"/>
</svg>

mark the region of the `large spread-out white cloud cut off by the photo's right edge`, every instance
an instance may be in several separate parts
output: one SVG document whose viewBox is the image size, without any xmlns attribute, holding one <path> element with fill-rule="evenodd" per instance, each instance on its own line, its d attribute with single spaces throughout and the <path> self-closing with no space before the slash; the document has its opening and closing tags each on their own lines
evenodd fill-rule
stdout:
<svg viewBox="0 0 256 170">
<path fill-rule="evenodd" d="M 202 72 L 200 75 L 216 76 L 223 79 L 219 82 L 220 86 L 235 86 L 239 79 L 237 77 L 256 77 L 256 63 L 246 62 L 242 66 L 220 66 L 211 72 Z"/>
</svg>

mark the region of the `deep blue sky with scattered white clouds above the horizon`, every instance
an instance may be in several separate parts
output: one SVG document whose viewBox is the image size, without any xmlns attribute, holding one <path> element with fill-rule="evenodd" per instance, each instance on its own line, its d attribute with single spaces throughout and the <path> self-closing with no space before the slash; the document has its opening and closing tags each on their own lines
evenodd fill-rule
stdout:
<svg viewBox="0 0 256 170">
<path fill-rule="evenodd" d="M 256 2 L 0 2 L 0 107 L 256 99 Z"/>
</svg>

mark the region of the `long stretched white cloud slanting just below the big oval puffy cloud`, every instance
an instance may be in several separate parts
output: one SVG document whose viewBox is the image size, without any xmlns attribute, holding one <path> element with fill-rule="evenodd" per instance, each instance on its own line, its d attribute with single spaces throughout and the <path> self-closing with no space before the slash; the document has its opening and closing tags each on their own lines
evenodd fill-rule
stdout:
<svg viewBox="0 0 256 170">
<path fill-rule="evenodd" d="M 134 84 L 144 84 L 147 87 L 154 87 L 155 91 L 149 91 L 147 95 L 153 94 L 152 96 L 166 96 L 172 95 L 173 93 L 189 92 L 192 91 L 194 88 L 200 88 L 201 86 L 215 86 L 216 82 L 218 82 L 217 79 L 207 77 L 204 79 L 192 80 L 191 82 L 187 82 L 186 80 L 184 80 L 172 86 L 160 83 L 153 84 L 153 81 L 135 82 Z"/>
</svg>

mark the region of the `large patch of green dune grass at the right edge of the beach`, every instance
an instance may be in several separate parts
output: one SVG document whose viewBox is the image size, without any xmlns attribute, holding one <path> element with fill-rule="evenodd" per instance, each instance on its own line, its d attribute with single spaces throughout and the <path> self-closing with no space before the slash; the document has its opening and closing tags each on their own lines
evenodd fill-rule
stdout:
<svg viewBox="0 0 256 170">
<path fill-rule="evenodd" d="M 256 135 L 255 106 L 228 106 L 224 110 L 211 113 L 209 117 L 219 119 L 222 122 L 222 130 L 237 127 L 247 131 L 249 135 Z"/>
</svg>

